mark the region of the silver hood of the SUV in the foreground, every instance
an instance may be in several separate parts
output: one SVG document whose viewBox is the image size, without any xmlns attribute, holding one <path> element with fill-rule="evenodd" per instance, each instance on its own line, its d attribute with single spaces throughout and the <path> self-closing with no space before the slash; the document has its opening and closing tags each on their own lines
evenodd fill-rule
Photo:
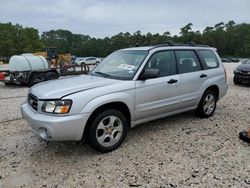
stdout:
<svg viewBox="0 0 250 188">
<path fill-rule="evenodd" d="M 119 82 L 121 81 L 103 77 L 81 75 L 43 82 L 33 86 L 30 89 L 30 92 L 38 99 L 60 99 L 72 93 Z"/>
</svg>

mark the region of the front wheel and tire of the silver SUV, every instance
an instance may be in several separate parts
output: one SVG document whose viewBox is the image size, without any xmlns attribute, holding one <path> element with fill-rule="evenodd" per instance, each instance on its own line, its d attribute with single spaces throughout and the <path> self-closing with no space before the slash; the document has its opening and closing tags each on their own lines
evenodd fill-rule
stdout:
<svg viewBox="0 0 250 188">
<path fill-rule="evenodd" d="M 107 153 L 118 148 L 126 137 L 128 121 L 118 110 L 99 113 L 87 129 L 87 141 L 95 150 Z M 112 143 L 112 141 L 114 143 Z"/>
</svg>

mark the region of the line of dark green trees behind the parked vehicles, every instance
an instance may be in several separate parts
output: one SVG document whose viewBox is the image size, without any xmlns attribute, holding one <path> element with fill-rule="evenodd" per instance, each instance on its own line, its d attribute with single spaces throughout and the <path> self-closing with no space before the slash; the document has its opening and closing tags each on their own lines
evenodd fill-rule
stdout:
<svg viewBox="0 0 250 188">
<path fill-rule="evenodd" d="M 208 26 L 203 31 L 194 31 L 193 24 L 180 28 L 180 34 L 142 34 L 121 32 L 112 37 L 95 38 L 89 35 L 74 34 L 68 30 L 50 30 L 39 35 L 39 31 L 20 24 L 0 23 L 0 58 L 9 58 L 15 54 L 43 51 L 46 46 L 54 46 L 60 53 L 76 56 L 105 57 L 111 52 L 133 46 L 149 46 L 166 42 L 207 44 L 217 48 L 223 57 L 250 57 L 250 24 L 220 22 Z"/>
</svg>

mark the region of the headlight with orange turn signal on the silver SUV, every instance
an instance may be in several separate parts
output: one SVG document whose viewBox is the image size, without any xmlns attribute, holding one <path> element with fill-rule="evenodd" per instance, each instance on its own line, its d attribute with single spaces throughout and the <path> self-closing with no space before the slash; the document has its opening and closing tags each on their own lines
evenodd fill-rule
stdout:
<svg viewBox="0 0 250 188">
<path fill-rule="evenodd" d="M 69 113 L 72 105 L 71 100 L 44 101 L 42 111 L 55 114 Z"/>
</svg>

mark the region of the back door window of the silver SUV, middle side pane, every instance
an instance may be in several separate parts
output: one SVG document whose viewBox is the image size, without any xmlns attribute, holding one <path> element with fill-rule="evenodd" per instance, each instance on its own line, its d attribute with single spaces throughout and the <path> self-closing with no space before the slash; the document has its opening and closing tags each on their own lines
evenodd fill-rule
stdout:
<svg viewBox="0 0 250 188">
<path fill-rule="evenodd" d="M 200 62 L 192 50 L 175 51 L 179 73 L 189 73 L 201 70 Z"/>
</svg>

